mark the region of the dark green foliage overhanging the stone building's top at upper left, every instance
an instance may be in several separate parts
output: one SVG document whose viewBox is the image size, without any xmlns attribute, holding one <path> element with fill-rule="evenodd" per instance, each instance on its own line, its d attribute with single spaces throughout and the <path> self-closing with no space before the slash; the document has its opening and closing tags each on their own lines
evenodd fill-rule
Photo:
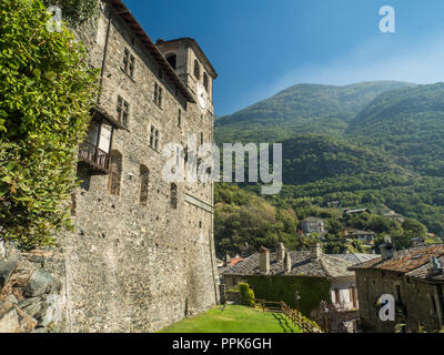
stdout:
<svg viewBox="0 0 444 355">
<path fill-rule="evenodd" d="M 46 7 L 58 6 L 70 26 L 77 27 L 99 13 L 101 0 L 43 0 Z"/>
</svg>

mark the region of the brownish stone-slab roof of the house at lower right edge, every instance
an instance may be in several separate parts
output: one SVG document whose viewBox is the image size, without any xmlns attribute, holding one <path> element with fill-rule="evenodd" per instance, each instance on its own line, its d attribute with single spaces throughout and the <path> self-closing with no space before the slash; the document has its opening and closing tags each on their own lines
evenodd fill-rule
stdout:
<svg viewBox="0 0 444 355">
<path fill-rule="evenodd" d="M 350 267 L 350 270 L 379 268 L 418 277 L 424 275 L 424 268 L 427 268 L 431 256 L 436 256 L 441 261 L 444 256 L 444 244 L 414 246 L 404 251 L 394 252 L 393 256 L 385 261 L 380 256 L 375 260 L 354 265 Z M 421 268 L 422 266 L 424 268 Z"/>
</svg>

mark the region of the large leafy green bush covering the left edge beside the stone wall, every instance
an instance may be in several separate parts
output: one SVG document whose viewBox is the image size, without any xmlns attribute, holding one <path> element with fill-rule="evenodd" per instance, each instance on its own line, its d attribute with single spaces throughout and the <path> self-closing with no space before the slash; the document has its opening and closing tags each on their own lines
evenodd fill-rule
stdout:
<svg viewBox="0 0 444 355">
<path fill-rule="evenodd" d="M 50 244 L 70 226 L 75 151 L 97 73 L 68 28 L 49 32 L 40 0 L 0 2 L 0 239 Z"/>
</svg>

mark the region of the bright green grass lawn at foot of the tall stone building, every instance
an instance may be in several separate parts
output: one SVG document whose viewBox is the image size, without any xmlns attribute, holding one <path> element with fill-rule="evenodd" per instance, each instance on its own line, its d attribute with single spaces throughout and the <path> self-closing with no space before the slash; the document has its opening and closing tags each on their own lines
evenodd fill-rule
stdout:
<svg viewBox="0 0 444 355">
<path fill-rule="evenodd" d="M 216 306 L 159 333 L 302 333 L 283 314 L 262 313 L 245 306 Z"/>
</svg>

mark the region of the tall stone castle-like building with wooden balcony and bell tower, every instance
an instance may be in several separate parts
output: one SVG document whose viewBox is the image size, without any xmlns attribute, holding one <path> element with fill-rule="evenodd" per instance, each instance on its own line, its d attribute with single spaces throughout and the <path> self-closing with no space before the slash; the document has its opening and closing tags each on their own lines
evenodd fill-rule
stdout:
<svg viewBox="0 0 444 355">
<path fill-rule="evenodd" d="M 158 331 L 219 300 L 213 184 L 162 178 L 165 144 L 185 148 L 178 166 L 189 169 L 212 142 L 218 74 L 192 39 L 154 44 L 120 0 L 77 33 L 102 75 L 79 150 L 75 229 L 47 263 L 64 284 L 63 331 Z"/>
</svg>

